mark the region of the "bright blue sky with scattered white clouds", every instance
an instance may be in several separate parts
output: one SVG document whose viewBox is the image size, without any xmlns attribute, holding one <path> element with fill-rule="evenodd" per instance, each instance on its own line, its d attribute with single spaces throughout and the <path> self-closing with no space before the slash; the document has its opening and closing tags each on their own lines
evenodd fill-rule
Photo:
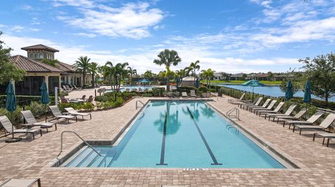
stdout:
<svg viewBox="0 0 335 187">
<path fill-rule="evenodd" d="M 58 60 L 79 56 L 104 65 L 128 62 L 159 72 L 163 49 L 178 52 L 179 70 L 288 72 L 300 58 L 334 52 L 335 0 L 15 0 L 1 1 L 0 40 L 12 55 L 45 44 Z"/>
</svg>

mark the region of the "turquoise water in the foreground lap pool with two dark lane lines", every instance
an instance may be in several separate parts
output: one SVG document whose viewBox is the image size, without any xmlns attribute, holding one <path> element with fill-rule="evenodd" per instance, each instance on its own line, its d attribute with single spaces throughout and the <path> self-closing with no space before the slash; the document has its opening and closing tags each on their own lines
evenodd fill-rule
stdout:
<svg viewBox="0 0 335 187">
<path fill-rule="evenodd" d="M 202 101 L 150 101 L 116 146 L 66 167 L 285 168 Z"/>
</svg>

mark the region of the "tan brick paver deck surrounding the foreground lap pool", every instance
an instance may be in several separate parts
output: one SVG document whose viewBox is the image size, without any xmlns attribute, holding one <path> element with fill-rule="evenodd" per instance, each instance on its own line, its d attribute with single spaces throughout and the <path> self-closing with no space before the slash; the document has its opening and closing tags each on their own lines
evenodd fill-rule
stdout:
<svg viewBox="0 0 335 187">
<path fill-rule="evenodd" d="M 92 113 L 92 120 L 59 124 L 57 131 L 43 133 L 36 140 L 4 143 L 0 138 L 0 181 L 8 178 L 40 177 L 42 186 L 334 186 L 335 149 L 322 146 L 322 139 L 312 141 L 312 132 L 304 136 L 264 120 L 247 111 L 241 111 L 244 128 L 257 133 L 274 147 L 306 167 L 303 169 L 120 169 L 120 168 L 51 168 L 59 153 L 61 131 L 76 131 L 87 140 L 112 140 L 135 115 L 137 98 L 120 108 Z M 236 107 L 228 104 L 228 97 L 211 104 L 221 112 Z M 80 142 L 75 136 L 66 136 L 65 148 Z"/>
</svg>

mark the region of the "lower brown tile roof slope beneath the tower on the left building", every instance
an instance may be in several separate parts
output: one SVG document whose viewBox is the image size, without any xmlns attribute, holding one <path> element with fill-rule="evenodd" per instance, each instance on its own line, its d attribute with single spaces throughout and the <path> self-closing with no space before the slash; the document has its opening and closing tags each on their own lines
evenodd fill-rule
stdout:
<svg viewBox="0 0 335 187">
<path fill-rule="evenodd" d="M 21 55 L 11 56 L 9 61 L 26 72 L 64 72 L 63 70 L 59 70 L 57 67 L 40 63 Z"/>
</svg>

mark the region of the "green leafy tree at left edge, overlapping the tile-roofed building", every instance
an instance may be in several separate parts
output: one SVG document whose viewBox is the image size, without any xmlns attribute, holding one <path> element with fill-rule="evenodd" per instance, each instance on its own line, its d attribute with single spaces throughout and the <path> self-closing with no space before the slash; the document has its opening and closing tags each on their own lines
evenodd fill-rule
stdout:
<svg viewBox="0 0 335 187">
<path fill-rule="evenodd" d="M 0 36 L 2 32 L 0 31 Z M 9 81 L 21 81 L 23 76 L 26 74 L 24 70 L 20 70 L 13 63 L 10 63 L 10 51 L 11 48 L 3 47 L 5 44 L 0 40 L 0 85 L 8 83 Z"/>
</svg>

